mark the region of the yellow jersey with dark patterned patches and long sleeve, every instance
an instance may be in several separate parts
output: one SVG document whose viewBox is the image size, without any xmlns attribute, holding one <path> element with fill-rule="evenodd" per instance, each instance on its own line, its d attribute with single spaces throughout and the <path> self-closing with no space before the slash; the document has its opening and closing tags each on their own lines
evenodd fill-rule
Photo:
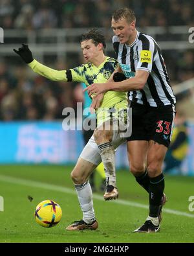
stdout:
<svg viewBox="0 0 194 256">
<path fill-rule="evenodd" d="M 32 70 L 39 75 L 45 76 L 50 80 L 63 82 L 84 82 L 86 86 L 94 83 L 105 83 L 110 78 L 118 66 L 118 62 L 114 58 L 106 57 L 105 60 L 96 67 L 92 63 L 80 65 L 69 70 L 58 71 L 50 69 L 37 60 L 33 60 L 28 64 Z M 116 117 L 117 110 L 127 109 L 127 93 L 123 91 L 107 91 L 105 93 L 100 109 L 96 111 L 98 124 L 110 118 L 109 110 L 115 109 L 116 113 L 111 112 L 111 117 Z M 108 110 L 108 111 L 105 111 Z"/>
</svg>

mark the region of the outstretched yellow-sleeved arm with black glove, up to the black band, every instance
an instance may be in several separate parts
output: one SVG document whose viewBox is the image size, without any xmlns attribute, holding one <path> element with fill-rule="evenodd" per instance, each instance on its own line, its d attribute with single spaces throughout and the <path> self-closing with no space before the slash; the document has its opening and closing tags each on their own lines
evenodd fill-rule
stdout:
<svg viewBox="0 0 194 256">
<path fill-rule="evenodd" d="M 28 64 L 31 69 L 38 73 L 41 76 L 45 76 L 50 80 L 53 81 L 64 81 L 67 82 L 67 74 L 66 70 L 58 71 L 56 69 L 50 69 L 50 67 L 47 67 L 46 65 L 43 65 L 39 63 L 37 60 L 35 60 L 32 56 L 32 52 L 30 51 L 28 45 L 22 44 L 22 47 L 20 47 L 18 50 L 14 49 L 14 52 L 16 52 L 22 60 Z"/>
</svg>

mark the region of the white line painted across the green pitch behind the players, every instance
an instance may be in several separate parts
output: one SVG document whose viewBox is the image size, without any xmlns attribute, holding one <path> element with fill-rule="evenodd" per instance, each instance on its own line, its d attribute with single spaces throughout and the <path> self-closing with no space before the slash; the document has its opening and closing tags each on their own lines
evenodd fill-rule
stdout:
<svg viewBox="0 0 194 256">
<path fill-rule="evenodd" d="M 53 185 L 53 184 L 49 184 L 49 183 L 41 183 L 39 181 L 25 180 L 25 179 L 14 178 L 14 177 L 4 176 L 4 175 L 0 175 L 0 181 L 5 181 L 8 183 L 14 183 L 14 184 L 19 184 L 19 185 L 25 185 L 25 186 L 30 186 L 30 187 L 39 187 L 41 189 L 48 189 L 51 191 L 65 192 L 68 194 L 74 194 L 75 196 L 77 195 L 76 191 L 74 191 L 73 189 L 69 189 L 67 187 L 62 187 L 62 186 Z M 93 194 L 93 198 L 96 200 L 104 201 L 103 197 L 98 194 Z M 147 205 L 138 204 L 138 203 L 135 203 L 132 201 L 126 201 L 126 200 L 122 200 L 122 199 L 118 199 L 118 200 L 112 201 L 112 202 L 113 202 L 113 204 L 122 204 L 122 205 L 129 205 L 129 206 L 133 206 L 133 207 L 148 209 Z M 172 209 L 162 209 L 162 211 L 164 213 L 169 213 L 172 215 L 179 215 L 179 216 L 186 216 L 186 217 L 194 218 L 194 214 L 185 213 L 183 211 L 175 211 Z"/>
</svg>

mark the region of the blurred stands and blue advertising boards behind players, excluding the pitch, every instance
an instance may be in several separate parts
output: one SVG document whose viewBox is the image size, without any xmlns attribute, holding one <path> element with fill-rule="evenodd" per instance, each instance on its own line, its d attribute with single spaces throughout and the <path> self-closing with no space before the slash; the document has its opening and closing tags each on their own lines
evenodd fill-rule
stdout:
<svg viewBox="0 0 194 256">
<path fill-rule="evenodd" d="M 189 121 L 182 173 L 194 174 L 193 0 L 0 0 L 0 163 L 75 163 L 83 147 L 81 131 L 61 129 L 63 108 L 76 110 L 83 100 L 80 84 L 51 82 L 32 73 L 13 48 L 28 43 L 39 62 L 69 69 L 82 62 L 80 34 L 100 27 L 107 54 L 114 57 L 111 14 L 122 6 L 135 10 L 138 30 L 153 36 L 162 49 L 177 106 Z M 117 167 L 127 168 L 124 146 L 116 157 Z"/>
</svg>

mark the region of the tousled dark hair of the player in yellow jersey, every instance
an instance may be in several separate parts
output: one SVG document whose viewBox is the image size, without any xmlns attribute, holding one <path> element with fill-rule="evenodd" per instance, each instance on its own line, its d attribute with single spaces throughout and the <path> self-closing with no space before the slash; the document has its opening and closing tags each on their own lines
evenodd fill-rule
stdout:
<svg viewBox="0 0 194 256">
<path fill-rule="evenodd" d="M 98 30 L 98 29 L 91 29 L 88 32 L 81 34 L 81 41 L 85 40 L 92 40 L 94 45 L 98 45 L 98 43 L 103 44 L 103 49 L 106 48 L 106 43 L 105 43 L 105 37 L 103 35 L 103 32 Z"/>
</svg>

